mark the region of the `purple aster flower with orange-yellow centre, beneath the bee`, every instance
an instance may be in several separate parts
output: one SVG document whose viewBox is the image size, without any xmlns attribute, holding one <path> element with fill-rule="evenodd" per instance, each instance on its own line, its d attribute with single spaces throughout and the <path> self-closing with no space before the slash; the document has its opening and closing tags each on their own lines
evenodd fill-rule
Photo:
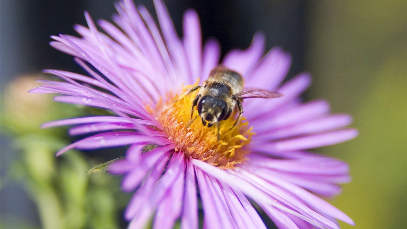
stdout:
<svg viewBox="0 0 407 229">
<path fill-rule="evenodd" d="M 301 73 L 282 84 L 290 56 L 273 48 L 262 57 L 262 34 L 220 62 L 216 40 L 201 47 L 195 11 L 184 14 L 180 40 L 163 3 L 154 3 L 159 26 L 143 6 L 125 0 L 116 4 L 118 27 L 100 20 L 102 33 L 85 13 L 88 28 L 75 26 L 80 38 L 52 37 L 51 45 L 74 56 L 89 76 L 45 70 L 66 82 L 44 81 L 32 92 L 59 93 L 63 96 L 56 101 L 116 113 L 44 124 L 76 125 L 72 135 L 95 134 L 57 155 L 73 148 L 130 145 L 111 172 L 124 174 L 122 189 L 135 192 L 125 211 L 132 229 L 143 228 L 152 216 L 154 228 L 172 228 L 177 220 L 183 229 L 197 228 L 199 202 L 204 228 L 265 228 L 253 205 L 278 228 L 335 229 L 336 220 L 353 225 L 319 197 L 337 195 L 339 184 L 350 181 L 348 165 L 309 151 L 356 137 L 357 130 L 345 128 L 351 117 L 330 114 L 324 100 L 301 102 L 310 75 Z M 235 128 L 229 130 L 236 113 L 219 123 L 218 141 L 215 126 L 195 121 L 186 127 L 196 93 L 185 92 L 202 85 L 219 64 L 241 73 L 247 87 L 284 96 L 245 101 L 244 117 Z"/>
</svg>

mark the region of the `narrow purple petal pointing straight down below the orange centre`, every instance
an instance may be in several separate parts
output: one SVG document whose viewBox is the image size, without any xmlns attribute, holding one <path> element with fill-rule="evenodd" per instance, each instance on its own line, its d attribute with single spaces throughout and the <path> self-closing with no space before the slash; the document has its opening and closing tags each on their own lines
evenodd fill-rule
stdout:
<svg viewBox="0 0 407 229">
<path fill-rule="evenodd" d="M 181 229 L 198 228 L 198 200 L 194 166 L 187 162 Z"/>
</svg>

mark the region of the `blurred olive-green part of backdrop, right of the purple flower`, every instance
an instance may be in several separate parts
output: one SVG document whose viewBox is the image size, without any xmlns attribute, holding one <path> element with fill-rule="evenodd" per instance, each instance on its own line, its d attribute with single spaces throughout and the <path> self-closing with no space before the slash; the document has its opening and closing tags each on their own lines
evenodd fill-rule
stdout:
<svg viewBox="0 0 407 229">
<path fill-rule="evenodd" d="M 324 152 L 350 164 L 332 203 L 356 227 L 407 227 L 407 1 L 313 1 L 306 68 L 311 98 L 353 115 L 359 137 Z"/>
</svg>

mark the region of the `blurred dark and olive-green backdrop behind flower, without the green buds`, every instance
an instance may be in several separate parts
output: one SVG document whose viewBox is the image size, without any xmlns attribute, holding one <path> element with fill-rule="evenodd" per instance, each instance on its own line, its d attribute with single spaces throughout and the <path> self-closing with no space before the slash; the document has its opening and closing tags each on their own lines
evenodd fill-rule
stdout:
<svg viewBox="0 0 407 229">
<path fill-rule="evenodd" d="M 75 34 L 94 20 L 109 19 L 112 0 L 1 0 L 0 90 L 11 78 L 44 68 L 81 71 L 72 57 L 48 45 L 50 35 Z M 217 37 L 222 53 L 246 48 L 256 31 L 267 49 L 282 46 L 293 56 L 288 77 L 310 70 L 314 83 L 306 99 L 324 97 L 333 112 L 348 112 L 360 136 L 317 151 L 348 161 L 352 183 L 332 200 L 356 228 L 397 229 L 407 225 L 407 3 L 380 1 L 175 1 L 166 0 L 180 34 L 182 14 L 197 10 L 204 40 Z M 153 12 L 150 1 L 137 1 Z M 181 34 L 180 34 L 181 35 Z M 0 172 L 16 158 L 0 136 Z M 37 222 L 35 206 L 18 184 L 0 189 L 0 222 L 9 215 Z M 1 223 L 0 223 L 1 224 Z M 344 228 L 353 228 L 342 225 Z M 0 225 L 1 228 L 1 225 Z"/>
</svg>

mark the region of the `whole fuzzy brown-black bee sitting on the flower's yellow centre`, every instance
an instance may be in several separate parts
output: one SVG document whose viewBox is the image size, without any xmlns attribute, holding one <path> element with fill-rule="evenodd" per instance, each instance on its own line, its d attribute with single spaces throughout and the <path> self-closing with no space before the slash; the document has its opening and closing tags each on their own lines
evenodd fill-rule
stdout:
<svg viewBox="0 0 407 229">
<path fill-rule="evenodd" d="M 213 124 L 217 124 L 219 141 L 219 122 L 229 119 L 237 105 L 239 115 L 232 126 L 234 128 L 243 113 L 243 99 L 270 99 L 282 96 L 282 94 L 276 91 L 260 88 L 243 88 L 243 84 L 242 76 L 236 71 L 230 70 L 225 66 L 214 68 L 204 85 L 195 86 L 187 92 L 189 94 L 199 89 L 191 106 L 191 119 L 196 106 L 199 114 L 197 117 L 201 117 L 204 126 L 211 127 Z M 190 121 L 187 128 L 197 117 Z"/>
</svg>

